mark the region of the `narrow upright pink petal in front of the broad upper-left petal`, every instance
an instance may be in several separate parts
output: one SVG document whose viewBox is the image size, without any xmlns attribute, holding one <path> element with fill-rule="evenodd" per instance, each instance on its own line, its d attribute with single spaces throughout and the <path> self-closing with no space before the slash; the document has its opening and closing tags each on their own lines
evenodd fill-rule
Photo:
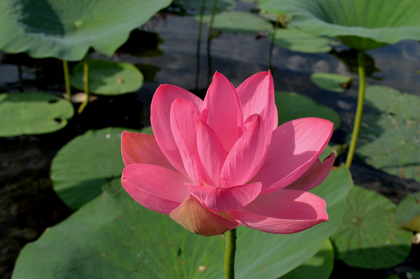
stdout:
<svg viewBox="0 0 420 279">
<path fill-rule="evenodd" d="M 175 99 L 171 106 L 171 128 L 173 138 L 184 162 L 189 178 L 203 185 L 197 152 L 197 119 L 199 111 L 191 101 Z"/>
</svg>

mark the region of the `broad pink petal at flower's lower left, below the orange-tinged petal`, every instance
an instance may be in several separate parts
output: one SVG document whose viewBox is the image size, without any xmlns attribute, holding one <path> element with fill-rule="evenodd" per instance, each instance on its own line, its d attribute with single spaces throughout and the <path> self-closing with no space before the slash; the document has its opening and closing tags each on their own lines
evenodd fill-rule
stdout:
<svg viewBox="0 0 420 279">
<path fill-rule="evenodd" d="M 165 214 L 178 207 L 190 194 L 185 182 L 192 183 L 181 173 L 147 164 L 126 166 L 121 178 L 124 189 L 139 204 Z"/>
</svg>

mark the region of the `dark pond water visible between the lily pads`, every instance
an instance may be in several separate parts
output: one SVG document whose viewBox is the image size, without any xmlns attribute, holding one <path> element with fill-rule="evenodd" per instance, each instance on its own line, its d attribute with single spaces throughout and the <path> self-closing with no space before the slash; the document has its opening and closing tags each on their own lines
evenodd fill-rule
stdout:
<svg viewBox="0 0 420 279">
<path fill-rule="evenodd" d="M 239 6 L 247 10 L 246 4 Z M 143 31 L 151 33 L 134 34 L 134 43 L 126 44 L 125 51 L 136 51 L 145 41 L 151 41 L 155 34 L 163 40 L 159 44 L 162 55 L 154 57 L 135 56 L 119 52 L 111 58 L 93 53 L 93 59 L 110 59 L 131 62 L 144 72 L 147 82 L 135 93 L 122 96 L 99 96 L 89 103 L 83 114 L 75 115 L 64 129 L 43 135 L 0 138 L 0 278 L 11 276 L 13 265 L 21 248 L 33 241 L 45 230 L 65 219 L 68 209 L 52 190 L 49 178 L 51 160 L 55 153 L 72 138 L 88 129 L 109 126 L 140 129 L 150 124 L 150 101 L 155 89 L 161 83 L 178 85 L 202 95 L 207 83 L 207 28 L 203 28 L 200 55 L 199 83 L 196 88 L 196 47 L 198 23 L 192 17 L 179 17 L 170 13 L 156 16 Z M 144 36 L 149 39 L 144 39 Z M 137 38 L 137 41 L 135 40 Z M 143 39 L 142 39 L 143 38 Z M 140 42 L 140 43 L 139 43 Z M 150 46 L 149 46 L 150 47 Z M 220 34 L 211 42 L 211 75 L 214 71 L 223 73 L 235 86 L 256 72 L 269 69 L 270 42 L 255 36 Z M 275 89 L 294 91 L 313 98 L 320 104 L 339 112 L 341 128 L 333 134 L 337 143 L 344 142 L 345 134 L 351 131 L 357 96 L 357 75 L 351 67 L 340 60 L 354 60 L 353 54 L 344 52 L 338 46 L 333 53 L 302 54 L 278 47 L 273 48 L 272 73 Z M 153 51 L 157 54 L 159 51 Z M 149 50 L 150 53 L 150 50 Z M 372 78 L 368 84 L 388 85 L 398 90 L 420 95 L 420 46 L 416 41 L 402 41 L 367 52 L 373 59 Z M 61 95 L 64 91 L 62 64 L 56 59 L 30 59 L 24 54 L 0 54 L 1 92 L 47 91 Z M 153 67 L 147 66 L 152 65 Z M 371 66 L 373 66 L 371 64 Z M 158 67 L 158 68 L 156 68 Z M 157 72 L 156 72 L 157 70 Z M 345 93 L 330 93 L 318 89 L 310 80 L 313 72 L 334 72 L 353 75 L 353 88 Z M 198 90 L 196 90 L 198 89 Z M 73 93 L 76 93 L 74 91 Z M 78 104 L 75 104 L 76 109 Z M 342 156 L 341 162 L 345 158 Z M 386 175 L 355 160 L 352 174 L 356 184 L 374 189 L 394 202 L 399 202 L 409 192 L 419 191 L 420 183 Z M 334 278 L 345 270 L 347 274 L 366 274 L 384 278 L 409 269 L 420 269 L 415 256 L 420 255 L 418 247 L 404 264 L 394 269 L 365 271 L 349 269 L 336 261 Z"/>
</svg>

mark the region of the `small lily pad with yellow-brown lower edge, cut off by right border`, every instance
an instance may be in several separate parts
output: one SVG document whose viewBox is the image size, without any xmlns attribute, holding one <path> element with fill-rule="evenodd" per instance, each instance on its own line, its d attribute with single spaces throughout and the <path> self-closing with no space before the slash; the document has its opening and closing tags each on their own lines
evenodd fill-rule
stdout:
<svg viewBox="0 0 420 279">
<path fill-rule="evenodd" d="M 420 192 L 409 194 L 398 204 L 396 223 L 399 227 L 420 232 Z"/>
</svg>

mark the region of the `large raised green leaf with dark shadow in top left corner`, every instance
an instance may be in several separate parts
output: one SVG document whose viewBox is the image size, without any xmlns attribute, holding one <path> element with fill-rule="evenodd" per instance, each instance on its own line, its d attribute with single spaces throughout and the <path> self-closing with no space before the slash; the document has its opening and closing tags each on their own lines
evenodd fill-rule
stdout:
<svg viewBox="0 0 420 279">
<path fill-rule="evenodd" d="M 111 56 L 171 0 L 0 1 L 0 49 L 77 61 L 89 47 Z"/>
</svg>

